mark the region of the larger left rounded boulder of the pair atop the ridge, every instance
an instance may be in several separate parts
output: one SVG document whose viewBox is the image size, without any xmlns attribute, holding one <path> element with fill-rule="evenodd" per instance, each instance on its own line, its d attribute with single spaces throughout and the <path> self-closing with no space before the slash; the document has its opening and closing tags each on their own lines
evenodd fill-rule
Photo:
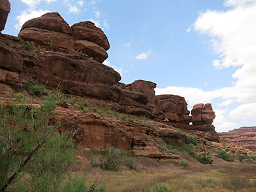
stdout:
<svg viewBox="0 0 256 192">
<path fill-rule="evenodd" d="M 49 12 L 39 18 L 28 20 L 20 30 L 18 37 L 32 41 L 35 45 L 75 50 L 72 30 L 58 12 Z"/>
</svg>

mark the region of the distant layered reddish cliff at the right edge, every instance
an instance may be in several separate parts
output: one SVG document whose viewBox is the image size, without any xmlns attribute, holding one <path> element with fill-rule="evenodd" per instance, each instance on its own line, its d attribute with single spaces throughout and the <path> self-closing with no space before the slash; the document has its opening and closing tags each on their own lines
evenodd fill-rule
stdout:
<svg viewBox="0 0 256 192">
<path fill-rule="evenodd" d="M 221 139 L 236 145 L 240 145 L 251 151 L 256 151 L 256 126 L 243 126 L 219 133 Z"/>
</svg>

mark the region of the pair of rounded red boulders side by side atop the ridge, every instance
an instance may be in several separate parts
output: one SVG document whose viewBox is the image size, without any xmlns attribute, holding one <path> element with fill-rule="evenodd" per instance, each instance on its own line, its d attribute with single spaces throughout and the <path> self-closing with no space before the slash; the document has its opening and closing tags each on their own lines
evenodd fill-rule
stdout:
<svg viewBox="0 0 256 192">
<path fill-rule="evenodd" d="M 93 22 L 79 22 L 70 28 L 58 12 L 28 20 L 18 37 L 35 45 L 77 50 L 100 63 L 108 58 L 106 50 L 110 48 L 106 35 Z"/>
</svg>

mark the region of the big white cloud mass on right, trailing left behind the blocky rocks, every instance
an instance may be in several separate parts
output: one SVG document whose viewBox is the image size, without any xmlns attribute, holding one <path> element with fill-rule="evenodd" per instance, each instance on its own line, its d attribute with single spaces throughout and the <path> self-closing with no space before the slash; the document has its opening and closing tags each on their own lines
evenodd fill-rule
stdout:
<svg viewBox="0 0 256 192">
<path fill-rule="evenodd" d="M 256 119 L 252 115 L 256 113 L 256 0 L 226 0 L 224 6 L 230 9 L 200 12 L 193 26 L 195 31 L 211 37 L 209 42 L 219 56 L 213 60 L 215 69 L 239 67 L 232 74 L 232 86 L 210 91 L 169 86 L 156 88 L 156 93 L 179 94 L 190 105 L 211 102 L 214 98 L 226 99 L 218 106 L 242 102 L 244 104 L 231 111 L 229 116 L 234 119 Z M 218 129 L 234 126 L 234 123 L 224 119 L 223 123 L 218 124 Z"/>
</svg>

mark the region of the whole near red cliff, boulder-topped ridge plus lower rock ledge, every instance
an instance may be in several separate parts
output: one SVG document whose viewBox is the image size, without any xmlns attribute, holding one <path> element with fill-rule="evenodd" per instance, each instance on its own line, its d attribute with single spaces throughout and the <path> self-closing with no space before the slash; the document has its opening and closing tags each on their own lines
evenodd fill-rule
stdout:
<svg viewBox="0 0 256 192">
<path fill-rule="evenodd" d="M 69 104 L 58 106 L 53 121 L 65 130 L 78 131 L 75 138 L 85 148 L 118 147 L 148 157 L 173 158 L 173 154 L 163 153 L 156 144 L 163 140 L 181 144 L 186 134 L 169 125 L 219 141 L 211 125 L 215 118 L 211 104 L 194 106 L 190 117 L 185 99 L 175 95 L 156 96 L 156 83 L 143 80 L 129 85 L 119 83 L 119 73 L 102 64 L 108 57 L 108 48 L 106 35 L 92 22 L 79 22 L 70 28 L 56 12 L 33 18 L 22 26 L 18 37 L 0 35 L 0 92 L 15 92 L 28 79 L 34 79 L 47 88 L 58 88 L 151 122 L 146 125 L 120 121 L 82 113 Z"/>
</svg>

